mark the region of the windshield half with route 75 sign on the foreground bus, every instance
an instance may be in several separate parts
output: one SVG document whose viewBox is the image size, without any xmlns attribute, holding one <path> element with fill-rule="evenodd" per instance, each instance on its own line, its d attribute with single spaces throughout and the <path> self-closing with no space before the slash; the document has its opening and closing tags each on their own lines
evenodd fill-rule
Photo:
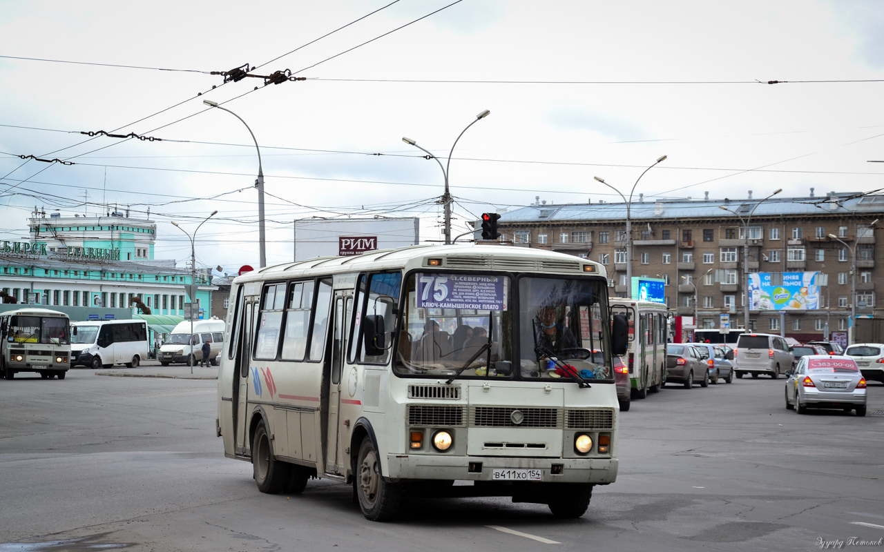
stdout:
<svg viewBox="0 0 884 552">
<path fill-rule="evenodd" d="M 509 276 L 417 273 L 406 286 L 398 374 L 513 376 Z"/>
</svg>

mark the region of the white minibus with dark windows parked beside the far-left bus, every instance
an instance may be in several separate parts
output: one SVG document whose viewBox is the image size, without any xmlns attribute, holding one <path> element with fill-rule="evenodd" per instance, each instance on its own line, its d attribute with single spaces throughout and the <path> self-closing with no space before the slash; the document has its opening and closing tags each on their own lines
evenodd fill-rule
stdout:
<svg viewBox="0 0 884 552">
<path fill-rule="evenodd" d="M 71 326 L 71 367 L 137 367 L 148 359 L 148 325 L 143 320 L 81 321 Z"/>
</svg>

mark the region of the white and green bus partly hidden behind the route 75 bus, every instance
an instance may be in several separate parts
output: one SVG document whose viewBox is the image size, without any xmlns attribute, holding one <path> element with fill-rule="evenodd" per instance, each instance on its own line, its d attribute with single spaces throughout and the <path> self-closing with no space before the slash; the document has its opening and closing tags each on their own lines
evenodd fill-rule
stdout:
<svg viewBox="0 0 884 552">
<path fill-rule="evenodd" d="M 629 325 L 627 358 L 632 398 L 656 393 L 666 382 L 667 306 L 652 301 L 611 299 L 611 312 L 625 314 Z"/>
</svg>

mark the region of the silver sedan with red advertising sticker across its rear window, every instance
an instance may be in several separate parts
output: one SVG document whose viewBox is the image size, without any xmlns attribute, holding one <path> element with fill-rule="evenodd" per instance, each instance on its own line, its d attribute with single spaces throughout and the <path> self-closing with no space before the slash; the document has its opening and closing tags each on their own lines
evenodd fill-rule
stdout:
<svg viewBox="0 0 884 552">
<path fill-rule="evenodd" d="M 786 408 L 804 414 L 808 408 L 841 408 L 865 416 L 865 378 L 850 357 L 809 355 L 798 361 L 786 380 Z"/>
</svg>

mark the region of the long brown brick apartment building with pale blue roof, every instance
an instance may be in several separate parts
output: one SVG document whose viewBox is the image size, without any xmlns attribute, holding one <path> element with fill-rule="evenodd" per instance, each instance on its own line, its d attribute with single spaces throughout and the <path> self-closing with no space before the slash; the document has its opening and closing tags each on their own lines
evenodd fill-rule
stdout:
<svg viewBox="0 0 884 552">
<path fill-rule="evenodd" d="M 611 294 L 625 297 L 626 216 L 622 202 L 547 205 L 537 200 L 506 213 L 499 225 L 503 239 L 514 246 L 606 265 Z M 745 199 L 639 199 L 629 206 L 632 276 L 665 280 L 667 305 L 675 314 L 693 316 L 697 301 L 699 326 L 715 328 L 723 313 L 731 315 L 733 326 L 743 326 L 743 270 L 770 272 L 773 284 L 783 272 L 819 271 L 819 310 L 787 311 L 784 320 L 780 312 L 751 311 L 749 323 L 752 331 L 780 333 L 785 324 L 786 336 L 819 339 L 826 329 L 847 330 L 852 300 L 858 317 L 884 318 L 884 304 L 875 301 L 875 283 L 884 274 L 880 262 L 875 266 L 876 258 L 884 259 L 872 226 L 879 217 L 884 224 L 884 195 L 862 193 L 760 202 L 751 193 Z M 851 299 L 854 254 L 857 297 Z"/>
</svg>

